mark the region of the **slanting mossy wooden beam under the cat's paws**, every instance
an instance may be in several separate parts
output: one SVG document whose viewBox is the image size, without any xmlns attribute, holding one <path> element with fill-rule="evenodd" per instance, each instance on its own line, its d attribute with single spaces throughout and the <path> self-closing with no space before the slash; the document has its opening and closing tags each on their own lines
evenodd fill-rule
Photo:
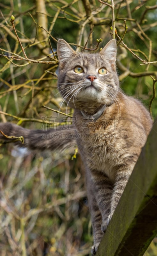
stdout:
<svg viewBox="0 0 157 256">
<path fill-rule="evenodd" d="M 157 119 L 96 256 L 143 256 L 157 234 Z"/>
</svg>

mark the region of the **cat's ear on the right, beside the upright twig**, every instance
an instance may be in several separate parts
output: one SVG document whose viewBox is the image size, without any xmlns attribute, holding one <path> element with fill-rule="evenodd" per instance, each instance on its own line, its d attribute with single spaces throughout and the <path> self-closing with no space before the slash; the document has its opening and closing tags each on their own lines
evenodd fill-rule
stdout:
<svg viewBox="0 0 157 256">
<path fill-rule="evenodd" d="M 104 58 L 111 63 L 111 66 L 114 66 L 117 54 L 117 46 L 115 39 L 110 40 L 102 49 L 100 54 L 103 55 Z"/>
</svg>

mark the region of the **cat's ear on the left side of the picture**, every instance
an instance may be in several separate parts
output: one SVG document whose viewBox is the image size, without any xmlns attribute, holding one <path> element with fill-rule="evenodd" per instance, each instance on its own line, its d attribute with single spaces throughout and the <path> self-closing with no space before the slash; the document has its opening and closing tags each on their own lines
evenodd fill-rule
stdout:
<svg viewBox="0 0 157 256">
<path fill-rule="evenodd" d="M 63 39 L 59 39 L 57 44 L 57 55 L 59 59 L 59 65 L 63 66 L 66 61 L 69 61 L 74 56 L 75 51 L 70 45 Z"/>
</svg>

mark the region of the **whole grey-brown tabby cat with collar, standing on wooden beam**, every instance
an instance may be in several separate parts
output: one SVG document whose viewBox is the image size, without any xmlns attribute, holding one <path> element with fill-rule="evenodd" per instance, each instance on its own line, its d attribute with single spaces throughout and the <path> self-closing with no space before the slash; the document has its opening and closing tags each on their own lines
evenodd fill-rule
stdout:
<svg viewBox="0 0 157 256">
<path fill-rule="evenodd" d="M 30 149 L 54 150 L 77 142 L 86 173 L 94 240 L 91 251 L 96 254 L 145 145 L 152 119 L 140 101 L 119 88 L 114 39 L 97 53 L 75 52 L 59 39 L 57 54 L 58 88 L 67 105 L 74 108 L 73 129 L 28 130 L 1 123 L 0 130 L 7 135 L 22 135 L 23 146 Z M 2 138 L 9 140 L 0 135 Z"/>
</svg>

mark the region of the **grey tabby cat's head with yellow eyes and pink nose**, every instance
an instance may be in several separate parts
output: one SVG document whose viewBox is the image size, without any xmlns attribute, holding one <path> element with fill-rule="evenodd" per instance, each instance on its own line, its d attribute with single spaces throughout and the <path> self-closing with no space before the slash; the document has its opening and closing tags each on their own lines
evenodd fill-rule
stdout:
<svg viewBox="0 0 157 256">
<path fill-rule="evenodd" d="M 115 100 L 119 81 L 114 39 L 99 53 L 75 52 L 65 40 L 59 39 L 57 53 L 58 88 L 68 106 L 80 110 L 90 106 L 98 109 Z"/>
</svg>

